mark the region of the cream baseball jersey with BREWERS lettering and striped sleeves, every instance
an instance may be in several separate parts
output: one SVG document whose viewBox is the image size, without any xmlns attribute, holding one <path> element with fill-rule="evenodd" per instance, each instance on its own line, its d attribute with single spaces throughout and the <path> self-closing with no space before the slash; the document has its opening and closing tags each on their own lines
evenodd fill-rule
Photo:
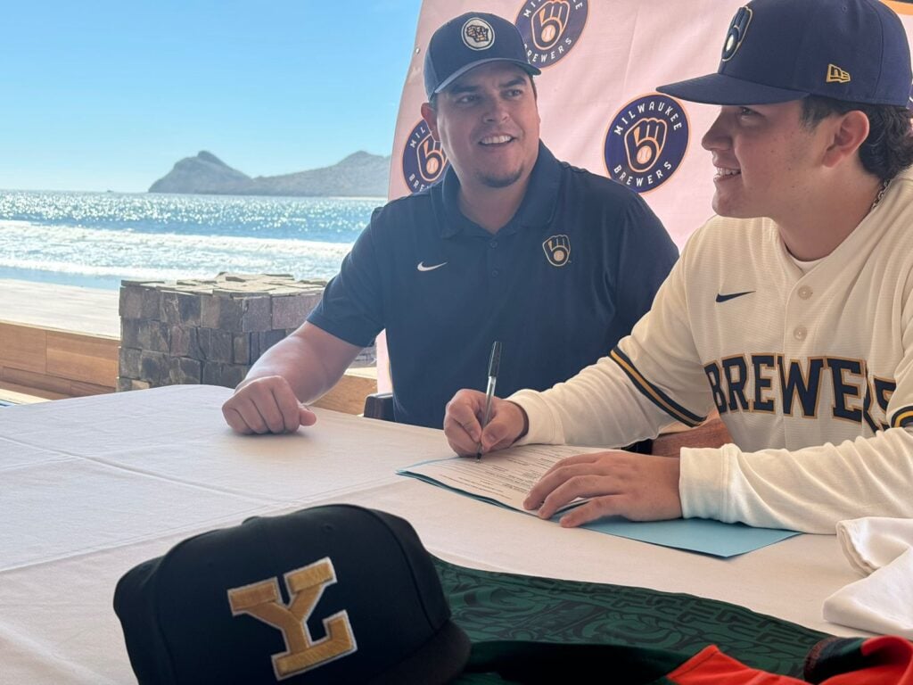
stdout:
<svg viewBox="0 0 913 685">
<path fill-rule="evenodd" d="M 910 170 L 805 273 L 770 219 L 716 216 L 609 356 L 511 397 L 524 442 L 625 445 L 716 408 L 734 444 L 682 450 L 686 516 L 809 532 L 911 517 L 911 290 Z"/>
</svg>

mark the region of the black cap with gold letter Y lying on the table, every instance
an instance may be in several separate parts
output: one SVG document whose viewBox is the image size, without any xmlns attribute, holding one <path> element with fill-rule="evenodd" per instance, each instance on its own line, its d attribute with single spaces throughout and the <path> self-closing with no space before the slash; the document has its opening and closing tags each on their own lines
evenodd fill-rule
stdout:
<svg viewBox="0 0 913 685">
<path fill-rule="evenodd" d="M 470 649 L 412 526 L 342 504 L 184 540 L 114 609 L 141 685 L 443 683 Z"/>
</svg>

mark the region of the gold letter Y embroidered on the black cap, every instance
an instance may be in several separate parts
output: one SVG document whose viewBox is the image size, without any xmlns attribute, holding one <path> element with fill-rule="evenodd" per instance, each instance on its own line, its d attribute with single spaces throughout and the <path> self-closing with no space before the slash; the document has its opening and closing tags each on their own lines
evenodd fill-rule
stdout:
<svg viewBox="0 0 913 685">
<path fill-rule="evenodd" d="M 358 649 L 346 611 L 323 619 L 326 637 L 310 636 L 308 620 L 327 585 L 336 582 L 330 557 L 285 574 L 289 605 L 279 595 L 276 578 L 228 590 L 232 616 L 249 614 L 282 631 L 287 651 L 272 655 L 276 678 L 282 680 L 341 659 Z"/>
</svg>

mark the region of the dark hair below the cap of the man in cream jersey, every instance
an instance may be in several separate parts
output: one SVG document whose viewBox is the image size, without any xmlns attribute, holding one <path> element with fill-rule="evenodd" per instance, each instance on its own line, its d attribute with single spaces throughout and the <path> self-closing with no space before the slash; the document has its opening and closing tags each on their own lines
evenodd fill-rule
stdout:
<svg viewBox="0 0 913 685">
<path fill-rule="evenodd" d="M 859 110 L 868 117 L 868 137 L 859 146 L 859 160 L 869 174 L 890 181 L 913 165 L 913 112 L 897 105 L 869 105 L 810 95 L 803 99 L 802 121 L 814 128 L 831 114 Z"/>
</svg>

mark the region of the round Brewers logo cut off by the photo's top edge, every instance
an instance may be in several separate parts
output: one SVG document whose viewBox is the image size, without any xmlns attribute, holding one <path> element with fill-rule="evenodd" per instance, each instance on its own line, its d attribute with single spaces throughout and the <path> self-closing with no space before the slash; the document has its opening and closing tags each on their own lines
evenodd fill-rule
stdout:
<svg viewBox="0 0 913 685">
<path fill-rule="evenodd" d="M 551 67 L 577 44 L 586 24 L 588 0 L 528 0 L 517 21 L 530 64 Z"/>
</svg>

